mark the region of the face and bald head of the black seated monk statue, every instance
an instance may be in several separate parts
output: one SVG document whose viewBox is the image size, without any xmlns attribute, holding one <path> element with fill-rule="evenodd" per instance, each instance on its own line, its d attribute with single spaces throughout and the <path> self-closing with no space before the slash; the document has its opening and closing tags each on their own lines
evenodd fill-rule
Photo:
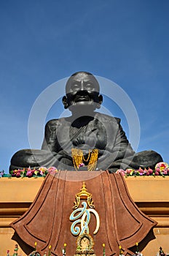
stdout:
<svg viewBox="0 0 169 256">
<path fill-rule="evenodd" d="M 99 103 L 99 85 L 93 75 L 79 72 L 69 78 L 66 84 L 67 107 L 91 106 Z M 96 107 L 95 107 L 96 108 Z"/>
</svg>

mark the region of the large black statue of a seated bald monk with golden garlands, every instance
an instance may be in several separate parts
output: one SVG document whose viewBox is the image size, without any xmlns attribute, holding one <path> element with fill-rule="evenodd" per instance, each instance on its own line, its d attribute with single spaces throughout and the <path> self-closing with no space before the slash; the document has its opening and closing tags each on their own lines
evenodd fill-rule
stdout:
<svg viewBox="0 0 169 256">
<path fill-rule="evenodd" d="M 47 122 L 42 149 L 17 151 L 9 171 L 39 166 L 58 170 L 138 169 L 162 162 L 155 151 L 135 153 L 120 125 L 120 119 L 98 113 L 103 97 L 98 80 L 89 72 L 76 72 L 68 78 L 64 108 L 71 116 Z"/>
</svg>

